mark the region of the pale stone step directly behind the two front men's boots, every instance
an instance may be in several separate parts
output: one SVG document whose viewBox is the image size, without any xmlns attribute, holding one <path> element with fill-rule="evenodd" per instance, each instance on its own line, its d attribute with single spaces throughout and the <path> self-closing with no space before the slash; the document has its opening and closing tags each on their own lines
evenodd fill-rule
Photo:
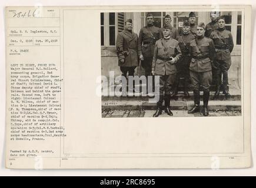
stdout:
<svg viewBox="0 0 256 188">
<path fill-rule="evenodd" d="M 170 103 L 172 110 L 188 110 L 193 105 L 192 100 L 171 100 Z M 102 110 L 155 110 L 156 106 L 157 103 L 145 100 L 102 100 Z M 241 100 L 209 100 L 208 109 L 241 111 Z"/>
</svg>

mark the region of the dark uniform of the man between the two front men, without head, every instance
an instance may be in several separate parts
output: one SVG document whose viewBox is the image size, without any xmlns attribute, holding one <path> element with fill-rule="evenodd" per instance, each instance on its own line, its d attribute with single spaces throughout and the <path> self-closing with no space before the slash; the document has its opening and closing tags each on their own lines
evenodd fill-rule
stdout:
<svg viewBox="0 0 256 188">
<path fill-rule="evenodd" d="M 187 86 L 189 82 L 189 65 L 191 62 L 191 56 L 189 55 L 190 42 L 195 39 L 194 35 L 190 33 L 182 33 L 177 37 L 179 48 L 181 49 L 181 57 L 177 63 L 177 77 L 175 80 L 175 88 L 177 91 L 179 85 L 179 79 L 184 78 L 184 91 L 187 91 Z"/>
</svg>

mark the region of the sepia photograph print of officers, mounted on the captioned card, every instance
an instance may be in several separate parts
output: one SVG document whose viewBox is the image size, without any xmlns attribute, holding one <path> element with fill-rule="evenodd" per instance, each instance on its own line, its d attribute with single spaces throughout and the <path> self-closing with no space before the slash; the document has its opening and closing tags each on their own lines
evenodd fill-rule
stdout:
<svg viewBox="0 0 256 188">
<path fill-rule="evenodd" d="M 102 117 L 241 116 L 242 12 L 101 12 Z"/>
</svg>

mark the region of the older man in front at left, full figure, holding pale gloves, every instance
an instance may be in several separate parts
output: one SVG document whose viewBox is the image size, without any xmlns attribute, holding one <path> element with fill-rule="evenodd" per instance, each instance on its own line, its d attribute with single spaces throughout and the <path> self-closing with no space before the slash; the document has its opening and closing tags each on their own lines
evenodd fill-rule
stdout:
<svg viewBox="0 0 256 188">
<path fill-rule="evenodd" d="M 154 57 L 152 61 L 152 75 L 159 76 L 159 100 L 157 111 L 154 117 L 162 114 L 162 102 L 164 99 L 165 112 L 172 116 L 169 109 L 171 99 L 171 86 L 174 83 L 177 69 L 175 63 L 178 62 L 181 50 L 178 41 L 171 38 L 171 26 L 165 24 L 163 27 L 164 38 L 155 43 Z M 158 92 L 156 92 L 158 94 Z"/>
</svg>

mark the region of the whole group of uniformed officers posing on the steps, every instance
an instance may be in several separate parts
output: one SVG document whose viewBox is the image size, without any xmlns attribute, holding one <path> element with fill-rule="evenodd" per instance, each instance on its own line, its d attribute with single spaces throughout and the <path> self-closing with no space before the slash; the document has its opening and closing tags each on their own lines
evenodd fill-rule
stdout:
<svg viewBox="0 0 256 188">
<path fill-rule="evenodd" d="M 180 78 L 184 78 L 184 96 L 188 97 L 188 83 L 191 80 L 194 93 L 194 106 L 188 113 L 200 112 L 200 87 L 203 90 L 204 108 L 202 113 L 208 116 L 208 100 L 212 78 L 216 90 L 214 98 L 223 93 L 228 98 L 228 69 L 234 43 L 231 32 L 225 29 L 225 18 L 220 12 L 211 12 L 211 22 L 195 24 L 194 12 L 189 13 L 182 29 L 171 25 L 171 17 L 165 16 L 162 28 L 154 26 L 154 16 L 147 14 L 147 25 L 141 28 L 139 36 L 132 32 L 132 20 L 125 22 L 124 31 L 117 36 L 118 65 L 122 75 L 134 76 L 134 70 L 141 61 L 145 76 L 159 76 L 159 100 L 154 117 L 162 110 L 172 116 L 170 99 L 177 95 Z M 223 78 L 222 78 L 223 75 Z M 154 80 L 154 79 L 153 79 Z M 147 83 L 147 88 L 153 83 Z M 171 92 L 172 89 L 172 92 Z M 148 90 L 148 89 L 147 89 Z M 164 102 L 164 108 L 162 106 Z"/>
</svg>

